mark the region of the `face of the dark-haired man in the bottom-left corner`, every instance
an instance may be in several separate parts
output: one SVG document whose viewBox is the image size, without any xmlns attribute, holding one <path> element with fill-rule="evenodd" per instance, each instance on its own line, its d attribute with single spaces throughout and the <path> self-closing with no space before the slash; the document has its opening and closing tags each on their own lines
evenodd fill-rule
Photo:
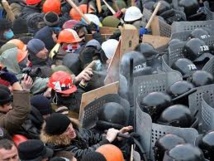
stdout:
<svg viewBox="0 0 214 161">
<path fill-rule="evenodd" d="M 18 151 L 15 145 L 10 150 L 4 148 L 0 149 L 0 160 L 1 161 L 19 161 Z"/>
</svg>

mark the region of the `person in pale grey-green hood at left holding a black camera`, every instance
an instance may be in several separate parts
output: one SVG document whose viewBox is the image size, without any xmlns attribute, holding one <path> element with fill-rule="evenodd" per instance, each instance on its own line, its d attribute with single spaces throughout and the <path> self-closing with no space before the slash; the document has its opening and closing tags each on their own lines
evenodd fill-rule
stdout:
<svg viewBox="0 0 214 161">
<path fill-rule="evenodd" d="M 48 78 L 37 76 L 36 70 L 31 70 L 31 68 L 27 67 L 27 51 L 22 51 L 14 46 L 10 48 L 10 46 L 11 43 L 6 43 L 4 45 L 5 51 L 2 50 L 3 53 L 0 55 L 0 63 L 3 65 L 2 70 L 14 73 L 18 80 L 21 80 L 21 85 L 23 84 L 24 77 L 26 77 L 26 81 L 33 83 L 30 88 L 33 94 L 44 92 L 47 88 Z"/>
</svg>

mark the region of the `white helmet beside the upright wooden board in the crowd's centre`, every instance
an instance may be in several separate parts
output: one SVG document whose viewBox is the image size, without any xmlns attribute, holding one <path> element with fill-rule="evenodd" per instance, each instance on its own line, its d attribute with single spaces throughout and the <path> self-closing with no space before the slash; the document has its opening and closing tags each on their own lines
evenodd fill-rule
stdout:
<svg viewBox="0 0 214 161">
<path fill-rule="evenodd" d="M 102 43 L 101 48 L 103 49 L 103 51 L 108 59 L 110 59 L 114 56 L 118 43 L 119 42 L 115 39 L 108 39 L 107 41 Z"/>
</svg>

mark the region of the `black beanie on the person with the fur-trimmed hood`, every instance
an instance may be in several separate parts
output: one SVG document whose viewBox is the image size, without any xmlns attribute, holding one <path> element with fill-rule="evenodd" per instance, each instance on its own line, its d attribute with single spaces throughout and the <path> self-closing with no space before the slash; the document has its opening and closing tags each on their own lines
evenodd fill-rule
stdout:
<svg viewBox="0 0 214 161">
<path fill-rule="evenodd" d="M 48 135 L 61 135 L 70 123 L 71 120 L 66 115 L 53 113 L 46 119 L 44 130 Z"/>
</svg>

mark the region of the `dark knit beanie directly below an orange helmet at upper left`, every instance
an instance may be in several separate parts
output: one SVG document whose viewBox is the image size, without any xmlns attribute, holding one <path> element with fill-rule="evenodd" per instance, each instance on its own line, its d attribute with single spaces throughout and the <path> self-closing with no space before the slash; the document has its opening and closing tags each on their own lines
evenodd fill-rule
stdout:
<svg viewBox="0 0 214 161">
<path fill-rule="evenodd" d="M 44 22 L 48 26 L 56 26 L 59 23 L 59 16 L 55 12 L 48 12 L 44 16 Z"/>
</svg>

